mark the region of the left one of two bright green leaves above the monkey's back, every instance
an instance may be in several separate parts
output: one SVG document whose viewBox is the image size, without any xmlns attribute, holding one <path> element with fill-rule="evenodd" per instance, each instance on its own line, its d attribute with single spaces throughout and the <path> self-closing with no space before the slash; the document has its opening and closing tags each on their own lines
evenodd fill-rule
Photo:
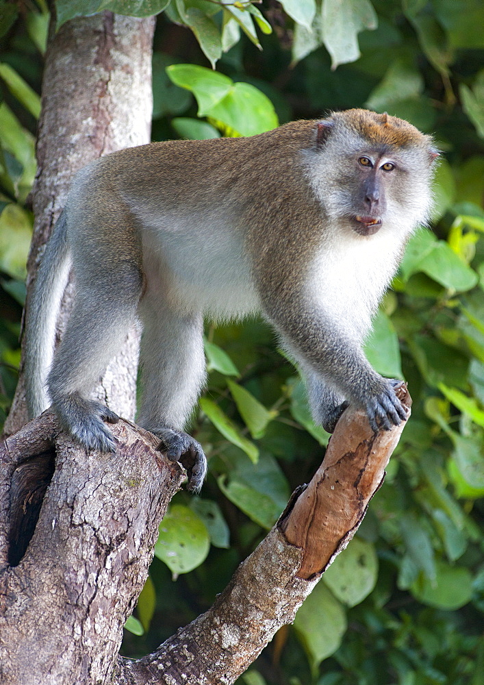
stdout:
<svg viewBox="0 0 484 685">
<path fill-rule="evenodd" d="M 166 73 L 176 86 L 190 90 L 199 105 L 199 116 L 207 116 L 233 86 L 228 76 L 197 64 L 171 64 Z"/>
</svg>

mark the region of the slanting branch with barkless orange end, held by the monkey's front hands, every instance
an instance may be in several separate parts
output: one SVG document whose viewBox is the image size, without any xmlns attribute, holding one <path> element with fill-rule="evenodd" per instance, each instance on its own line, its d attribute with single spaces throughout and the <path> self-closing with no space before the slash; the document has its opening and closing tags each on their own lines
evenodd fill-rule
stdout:
<svg viewBox="0 0 484 685">
<path fill-rule="evenodd" d="M 398 397 L 410 408 L 405 384 Z M 120 659 L 118 685 L 229 685 L 296 611 L 353 538 L 404 423 L 374 435 L 349 408 L 307 488 L 294 493 L 277 525 L 233 575 L 212 608 L 137 662 Z"/>
</svg>

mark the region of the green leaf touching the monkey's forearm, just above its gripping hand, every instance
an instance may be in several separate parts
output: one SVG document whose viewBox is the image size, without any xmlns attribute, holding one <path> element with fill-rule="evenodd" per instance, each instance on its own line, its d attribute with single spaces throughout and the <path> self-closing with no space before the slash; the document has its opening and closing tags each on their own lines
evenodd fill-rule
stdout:
<svg viewBox="0 0 484 685">
<path fill-rule="evenodd" d="M 379 373 L 390 378 L 402 378 L 400 347 L 392 321 L 379 312 L 365 344 L 366 358 Z"/>
</svg>

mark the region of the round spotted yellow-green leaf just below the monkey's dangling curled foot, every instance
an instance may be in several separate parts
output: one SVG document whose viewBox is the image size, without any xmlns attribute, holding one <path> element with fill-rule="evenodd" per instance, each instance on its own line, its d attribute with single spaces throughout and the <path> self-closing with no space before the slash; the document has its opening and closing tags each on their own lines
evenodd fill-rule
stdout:
<svg viewBox="0 0 484 685">
<path fill-rule="evenodd" d="M 173 576 L 200 566 L 209 548 L 209 534 L 199 516 L 183 504 L 170 506 L 160 523 L 155 556 L 165 562 Z"/>
</svg>

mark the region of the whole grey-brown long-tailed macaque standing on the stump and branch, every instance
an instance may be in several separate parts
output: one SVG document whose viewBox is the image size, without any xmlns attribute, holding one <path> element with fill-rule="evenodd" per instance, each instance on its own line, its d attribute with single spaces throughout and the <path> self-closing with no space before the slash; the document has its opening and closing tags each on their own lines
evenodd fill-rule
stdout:
<svg viewBox="0 0 484 685">
<path fill-rule="evenodd" d="M 153 142 L 107 155 L 74 179 L 27 309 L 29 412 L 50 403 L 86 449 L 114 451 L 89 399 L 136 318 L 142 322 L 138 423 L 205 476 L 182 432 L 205 380 L 203 316 L 255 311 L 307 378 L 330 431 L 352 403 L 374 431 L 406 411 L 362 341 L 413 229 L 428 219 L 437 152 L 406 121 L 366 110 L 296 121 L 252 138 Z M 53 353 L 69 270 L 75 303 Z M 49 371 L 50 368 L 50 371 Z"/>
</svg>

